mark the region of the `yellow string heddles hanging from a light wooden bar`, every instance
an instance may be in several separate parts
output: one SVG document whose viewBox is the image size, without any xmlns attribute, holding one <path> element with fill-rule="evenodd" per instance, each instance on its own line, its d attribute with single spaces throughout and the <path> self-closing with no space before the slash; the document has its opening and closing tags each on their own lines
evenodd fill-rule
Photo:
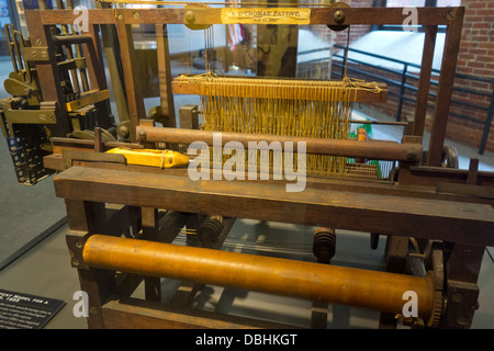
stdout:
<svg viewBox="0 0 494 351">
<path fill-rule="evenodd" d="M 385 84 L 345 78 L 341 81 L 252 79 L 206 72 L 199 78 L 181 76 L 175 79 L 172 88 L 175 93 L 202 97 L 202 128 L 205 131 L 348 139 L 351 103 L 385 101 L 388 90 Z M 216 152 L 225 154 L 223 148 Z M 363 170 L 363 174 L 369 170 L 364 162 L 347 165 L 346 157 L 312 154 L 306 157 L 306 173 L 312 177 L 357 177 L 356 170 Z M 272 173 L 282 173 L 279 163 Z M 377 169 L 374 173 L 378 178 Z"/>
</svg>

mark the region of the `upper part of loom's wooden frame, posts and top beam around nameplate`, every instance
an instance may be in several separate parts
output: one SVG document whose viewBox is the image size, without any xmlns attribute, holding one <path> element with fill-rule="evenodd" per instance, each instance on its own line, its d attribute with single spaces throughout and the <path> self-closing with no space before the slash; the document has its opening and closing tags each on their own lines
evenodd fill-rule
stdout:
<svg viewBox="0 0 494 351">
<path fill-rule="evenodd" d="M 134 53 L 131 43 L 132 33 L 128 31 L 128 25 L 155 23 L 162 24 L 186 24 L 188 23 L 186 13 L 187 9 L 94 9 L 88 10 L 88 18 L 90 25 L 90 35 L 93 41 L 99 44 L 100 48 L 99 67 L 102 68 L 101 45 L 98 33 L 99 24 L 115 24 L 117 29 L 121 57 L 125 71 L 125 92 L 128 104 L 128 113 L 131 120 L 131 128 L 133 132 L 138 125 L 138 118 L 146 115 L 144 110 L 143 99 L 138 91 L 138 81 L 135 77 L 135 65 L 133 65 Z M 345 19 L 343 22 L 335 20 L 335 12 L 344 11 Z M 195 14 L 194 24 L 221 24 L 221 9 L 193 9 Z M 450 100 L 452 94 L 452 84 L 454 80 L 457 56 L 459 44 L 461 39 L 461 29 L 463 24 L 464 8 L 417 8 L 417 25 L 426 26 L 426 34 L 424 38 L 423 63 L 420 70 L 420 79 L 417 92 L 416 112 L 414 118 L 414 135 L 423 136 L 425 126 L 425 116 L 427 109 L 428 91 L 430 87 L 430 75 L 433 68 L 433 57 L 435 50 L 435 42 L 437 35 L 437 26 L 446 25 L 446 42 L 444 47 L 441 75 L 439 78 L 438 93 L 436 99 L 436 110 L 434 113 L 434 124 L 431 137 L 429 141 L 428 166 L 440 166 L 442 146 L 446 137 L 446 127 L 449 115 Z M 33 46 L 45 46 L 49 38 L 46 37 L 43 27 L 55 24 L 71 24 L 77 19 L 78 14 L 72 10 L 32 10 L 26 11 L 27 23 L 30 32 L 36 36 L 33 41 Z M 403 14 L 402 8 L 340 8 L 337 4 L 328 8 L 311 9 L 311 24 L 325 24 L 332 26 L 346 25 L 373 25 L 373 24 L 403 24 L 406 15 Z M 159 33 L 157 31 L 157 33 Z M 161 32 L 162 33 L 162 32 Z M 160 35 L 157 35 L 159 38 Z M 40 41 L 37 41 L 40 38 Z M 159 55 L 159 54 L 158 54 Z M 52 66 L 54 63 L 52 63 Z M 38 70 L 48 76 L 54 72 L 49 69 L 49 63 L 40 67 Z M 53 75 L 52 75 L 53 77 Z M 98 78 L 98 75 L 93 77 Z M 42 76 L 41 76 L 42 78 Z M 96 80 L 96 79 L 94 79 Z M 42 81 L 42 91 L 46 97 L 59 97 L 61 92 L 56 91 L 56 87 L 49 87 L 48 82 Z M 47 80 L 49 81 L 49 80 Z M 166 81 L 160 81 L 161 84 L 167 84 Z M 169 82 L 168 82 L 169 84 Z M 171 91 L 169 87 L 168 92 Z M 162 99 L 162 98 L 161 98 Z M 46 98 L 45 98 L 46 100 Z M 53 99 L 61 101 L 61 99 Z M 61 111 L 64 112 L 64 111 Z M 135 133 L 133 140 L 136 139 Z"/>
</svg>

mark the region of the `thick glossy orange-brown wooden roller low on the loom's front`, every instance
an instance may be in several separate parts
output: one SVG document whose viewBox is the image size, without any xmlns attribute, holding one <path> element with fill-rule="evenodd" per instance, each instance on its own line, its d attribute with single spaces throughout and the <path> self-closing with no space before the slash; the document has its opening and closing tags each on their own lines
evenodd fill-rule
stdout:
<svg viewBox="0 0 494 351">
<path fill-rule="evenodd" d="M 428 318 L 433 310 L 433 282 L 422 276 L 102 235 L 88 239 L 82 257 L 92 268 L 192 280 L 394 314 L 401 314 L 408 302 L 404 293 L 413 291 L 418 316 Z"/>
</svg>

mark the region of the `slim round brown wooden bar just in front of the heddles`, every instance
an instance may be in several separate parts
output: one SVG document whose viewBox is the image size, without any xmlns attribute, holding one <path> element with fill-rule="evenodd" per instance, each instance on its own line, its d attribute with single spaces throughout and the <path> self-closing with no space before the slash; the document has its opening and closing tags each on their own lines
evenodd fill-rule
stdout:
<svg viewBox="0 0 494 351">
<path fill-rule="evenodd" d="M 307 154 L 362 157 L 377 160 L 416 162 L 422 156 L 420 144 L 400 144 L 395 141 L 324 139 L 314 137 L 195 131 L 151 126 L 137 126 L 136 134 L 142 141 L 149 143 L 192 144 L 193 141 L 204 141 L 210 146 L 216 146 L 215 144 L 220 146 L 220 143 L 221 146 L 224 146 L 228 141 L 238 141 L 244 147 L 256 146 L 258 149 L 270 149 L 272 147 L 272 143 L 280 143 L 280 145 L 285 145 L 284 143 L 292 143 L 293 151 L 297 151 L 300 145 L 299 143 L 305 143 L 305 151 Z M 256 143 L 256 145 L 249 145 L 249 143 Z"/>
</svg>

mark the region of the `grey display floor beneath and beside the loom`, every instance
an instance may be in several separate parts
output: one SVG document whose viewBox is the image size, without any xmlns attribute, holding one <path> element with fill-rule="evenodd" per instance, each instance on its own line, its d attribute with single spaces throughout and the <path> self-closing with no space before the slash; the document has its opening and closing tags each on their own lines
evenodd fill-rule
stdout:
<svg viewBox="0 0 494 351">
<path fill-rule="evenodd" d="M 72 309 L 79 291 L 77 272 L 70 267 L 65 242 L 67 226 L 55 230 L 32 250 L 0 271 L 0 287 L 66 302 L 61 310 L 47 324 L 46 329 L 86 329 L 83 318 L 75 317 Z M 278 223 L 261 224 L 257 220 L 240 219 L 232 229 L 225 242 L 226 250 L 246 253 L 272 254 L 269 248 L 277 244 L 277 257 L 312 260 L 311 242 L 313 228 Z M 242 239 L 242 244 L 240 242 Z M 184 238 L 179 237 L 178 244 Z M 369 236 L 346 230 L 337 231 L 337 253 L 333 264 L 371 270 L 382 270 L 384 241 L 373 251 L 369 249 Z M 473 329 L 494 328 L 494 263 L 489 253 L 484 254 L 479 279 L 480 308 L 473 319 Z M 177 287 L 177 282 L 162 280 L 164 301 Z M 142 286 L 135 293 L 143 296 Z M 239 290 L 207 286 L 193 304 L 197 308 L 228 313 L 238 316 L 263 318 L 267 320 L 310 326 L 311 304 L 306 301 L 251 293 Z M 379 326 L 379 313 L 357 307 L 330 305 L 327 328 L 374 329 Z M 398 328 L 403 326 L 398 325 Z"/>
</svg>

